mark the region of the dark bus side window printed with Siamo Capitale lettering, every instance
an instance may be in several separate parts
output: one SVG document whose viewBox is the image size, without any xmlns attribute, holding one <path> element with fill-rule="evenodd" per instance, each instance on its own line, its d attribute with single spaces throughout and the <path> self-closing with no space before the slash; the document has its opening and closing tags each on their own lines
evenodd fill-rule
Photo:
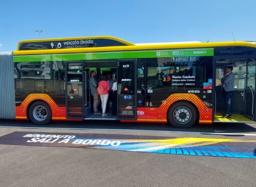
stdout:
<svg viewBox="0 0 256 187">
<path fill-rule="evenodd" d="M 188 93 L 188 90 L 202 93 L 204 83 L 212 82 L 212 57 L 209 56 L 147 58 L 146 68 L 147 106 L 159 107 L 172 93 Z M 207 94 L 203 98 L 210 103 L 212 96 Z"/>
</svg>

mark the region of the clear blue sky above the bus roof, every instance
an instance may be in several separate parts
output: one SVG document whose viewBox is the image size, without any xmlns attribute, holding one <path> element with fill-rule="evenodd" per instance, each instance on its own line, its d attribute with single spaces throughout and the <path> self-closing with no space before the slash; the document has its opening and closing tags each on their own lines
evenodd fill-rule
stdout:
<svg viewBox="0 0 256 187">
<path fill-rule="evenodd" d="M 1 0 L 0 51 L 19 41 L 110 35 L 133 43 L 256 40 L 256 0 Z"/>
</svg>

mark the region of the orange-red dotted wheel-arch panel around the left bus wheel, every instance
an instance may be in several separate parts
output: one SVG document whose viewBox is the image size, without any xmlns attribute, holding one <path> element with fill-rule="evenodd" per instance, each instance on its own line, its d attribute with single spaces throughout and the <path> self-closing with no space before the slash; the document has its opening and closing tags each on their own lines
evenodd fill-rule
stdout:
<svg viewBox="0 0 256 187">
<path fill-rule="evenodd" d="M 45 93 L 29 94 L 20 106 L 16 106 L 16 118 L 27 119 L 28 105 L 34 100 L 43 100 L 49 104 L 52 110 L 52 119 L 66 119 L 66 107 L 58 106 L 52 97 Z"/>
</svg>

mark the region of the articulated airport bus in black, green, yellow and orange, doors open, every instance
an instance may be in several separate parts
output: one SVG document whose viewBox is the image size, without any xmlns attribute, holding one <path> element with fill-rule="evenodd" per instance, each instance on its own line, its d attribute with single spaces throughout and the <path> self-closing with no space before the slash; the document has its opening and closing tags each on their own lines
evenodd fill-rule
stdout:
<svg viewBox="0 0 256 187">
<path fill-rule="evenodd" d="M 256 43 L 134 44 L 110 36 L 23 40 L 0 55 L 0 118 L 195 123 L 254 122 Z M 235 74 L 231 118 L 221 78 Z M 92 110 L 90 72 L 117 77 L 117 115 Z M 100 108 L 99 108 L 100 109 Z"/>
</svg>

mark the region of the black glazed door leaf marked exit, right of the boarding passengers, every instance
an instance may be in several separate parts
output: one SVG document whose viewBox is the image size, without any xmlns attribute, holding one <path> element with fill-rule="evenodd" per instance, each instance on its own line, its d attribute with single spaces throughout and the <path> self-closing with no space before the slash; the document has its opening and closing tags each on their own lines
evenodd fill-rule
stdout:
<svg viewBox="0 0 256 187">
<path fill-rule="evenodd" d="M 137 119 L 137 60 L 119 60 L 117 64 L 117 118 Z"/>
</svg>

